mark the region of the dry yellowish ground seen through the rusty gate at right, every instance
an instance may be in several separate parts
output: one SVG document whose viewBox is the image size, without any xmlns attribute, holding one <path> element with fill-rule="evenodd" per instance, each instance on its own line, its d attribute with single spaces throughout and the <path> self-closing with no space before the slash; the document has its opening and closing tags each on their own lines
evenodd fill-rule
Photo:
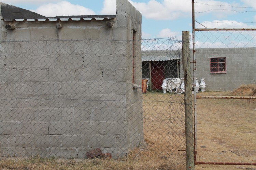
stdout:
<svg viewBox="0 0 256 170">
<path fill-rule="evenodd" d="M 248 92 L 249 91 L 249 92 Z M 200 96 L 253 96 L 247 88 Z M 256 163 L 256 99 L 197 99 L 197 161 Z M 196 169 L 256 169 L 197 165 Z"/>
</svg>

